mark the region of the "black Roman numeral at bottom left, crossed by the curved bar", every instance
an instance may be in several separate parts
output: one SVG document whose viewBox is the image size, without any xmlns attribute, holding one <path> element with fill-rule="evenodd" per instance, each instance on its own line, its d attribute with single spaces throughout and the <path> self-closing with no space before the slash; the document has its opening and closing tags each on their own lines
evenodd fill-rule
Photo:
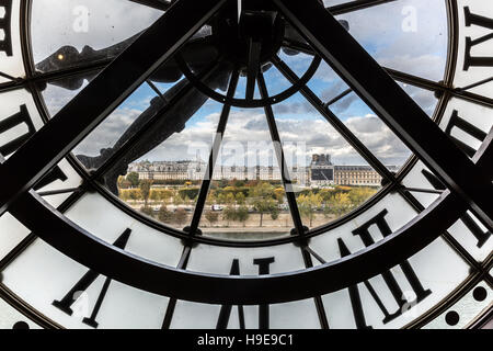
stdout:
<svg viewBox="0 0 493 351">
<path fill-rule="evenodd" d="M 125 249 L 128 238 L 130 237 L 131 230 L 126 229 L 119 237 L 116 239 L 116 241 L 113 244 L 115 247 L 119 249 Z M 88 290 L 89 286 L 91 286 L 94 281 L 100 276 L 100 273 L 95 271 L 88 271 L 77 283 L 73 285 L 72 288 L 64 296 L 64 298 L 59 301 L 54 301 L 53 305 L 57 307 L 58 309 L 65 312 L 67 315 L 72 315 L 71 306 L 77 301 L 77 297 L 81 292 L 84 292 Z M 87 324 L 88 326 L 91 326 L 93 328 L 98 328 L 98 313 L 100 312 L 101 305 L 103 304 L 104 297 L 106 296 L 106 292 L 110 287 L 110 283 L 112 280 L 110 278 L 106 278 L 104 281 L 103 287 L 101 288 L 100 295 L 98 296 L 98 301 L 94 305 L 94 308 L 91 313 L 90 317 L 83 318 L 82 321 Z"/>
</svg>

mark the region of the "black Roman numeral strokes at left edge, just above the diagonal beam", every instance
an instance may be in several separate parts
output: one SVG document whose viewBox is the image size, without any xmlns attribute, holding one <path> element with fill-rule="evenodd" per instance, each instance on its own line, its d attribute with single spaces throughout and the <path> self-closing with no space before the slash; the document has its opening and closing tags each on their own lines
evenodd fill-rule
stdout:
<svg viewBox="0 0 493 351">
<path fill-rule="evenodd" d="M 22 124 L 25 124 L 27 126 L 26 133 L 18 136 L 7 144 L 0 145 L 0 154 L 3 157 L 8 157 L 9 155 L 15 152 L 15 150 L 19 149 L 22 144 L 24 144 L 34 133 L 36 133 L 26 105 L 21 105 L 20 110 L 20 112 L 0 121 L 0 135 Z"/>
</svg>

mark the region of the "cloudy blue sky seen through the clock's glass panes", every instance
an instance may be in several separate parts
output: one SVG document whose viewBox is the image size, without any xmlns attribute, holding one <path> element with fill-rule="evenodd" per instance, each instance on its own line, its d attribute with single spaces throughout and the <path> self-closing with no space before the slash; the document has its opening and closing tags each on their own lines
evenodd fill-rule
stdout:
<svg viewBox="0 0 493 351">
<path fill-rule="evenodd" d="M 345 1 L 325 1 L 328 5 L 341 2 Z M 54 12 L 50 15 L 60 20 L 39 21 L 43 13 L 46 18 L 47 11 Z M 33 19 L 38 19 L 33 23 L 32 31 L 35 61 L 43 60 L 64 45 L 74 46 L 79 50 L 85 45 L 94 49 L 114 45 L 146 29 L 161 14 L 159 11 L 121 0 L 70 0 L 64 1 L 61 5 L 59 1 L 56 1 L 55 5 L 54 0 L 38 0 L 33 3 Z M 81 14 L 87 14 L 85 23 L 80 22 Z M 337 19 L 348 21 L 349 33 L 379 64 L 434 81 L 442 79 L 447 55 L 444 0 L 399 0 L 343 14 Z M 80 31 L 81 27 L 87 31 Z M 311 57 L 305 54 L 288 56 L 280 52 L 279 56 L 298 76 L 301 76 L 311 63 Z M 271 94 L 289 87 L 289 82 L 275 68 L 265 72 L 265 80 Z M 244 94 L 244 78 L 240 80 L 237 97 Z M 324 63 L 308 86 L 322 101 L 336 97 L 347 88 Z M 433 92 L 412 86 L 400 86 L 428 115 L 433 114 L 437 103 Z M 165 93 L 171 84 L 158 87 Z M 77 92 L 48 84 L 44 98 L 51 115 Z M 147 84 L 141 86 L 74 149 L 74 154 L 96 156 L 100 149 L 113 146 L 156 97 L 157 93 Z M 275 104 L 273 111 L 288 163 L 306 166 L 312 154 L 330 154 L 337 165 L 365 165 L 365 160 L 300 93 Z M 333 104 L 331 111 L 385 165 L 400 166 L 410 157 L 411 151 L 355 93 Z M 182 132 L 142 154 L 140 159 L 194 159 L 197 154 L 202 159 L 207 159 L 220 112 L 221 104 L 208 100 L 188 120 Z M 219 162 L 237 166 L 256 166 L 260 162 L 263 166 L 276 166 L 270 140 L 262 109 L 233 107 Z"/>
</svg>

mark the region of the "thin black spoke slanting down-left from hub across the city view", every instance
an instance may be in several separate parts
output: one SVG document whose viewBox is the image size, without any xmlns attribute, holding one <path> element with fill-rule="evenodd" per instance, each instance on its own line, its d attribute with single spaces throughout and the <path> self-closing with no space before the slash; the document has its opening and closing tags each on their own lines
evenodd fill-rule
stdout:
<svg viewBox="0 0 493 351">
<path fill-rule="evenodd" d="M 228 88 L 228 92 L 227 92 L 228 98 L 234 97 L 239 77 L 240 77 L 240 72 L 238 71 L 238 69 L 234 69 L 233 73 L 231 75 L 231 80 L 229 82 L 229 88 Z M 202 185 L 200 185 L 200 192 L 198 193 L 197 203 L 195 204 L 195 211 L 194 211 L 194 215 L 192 217 L 192 224 L 190 226 L 190 234 L 192 236 L 196 235 L 198 225 L 200 223 L 202 214 L 204 212 L 204 206 L 205 206 L 205 203 L 207 200 L 207 194 L 208 194 L 209 188 L 210 188 L 210 182 L 213 181 L 214 167 L 216 165 L 217 157 L 219 156 L 219 150 L 221 147 L 223 135 L 225 135 L 226 125 L 228 124 L 228 118 L 229 118 L 230 112 L 231 112 L 231 105 L 225 104 L 222 106 L 222 112 L 221 112 L 221 115 L 219 117 L 219 122 L 217 125 L 216 136 L 214 137 L 213 148 L 210 150 L 207 169 L 204 173 L 204 179 L 203 179 Z"/>
</svg>

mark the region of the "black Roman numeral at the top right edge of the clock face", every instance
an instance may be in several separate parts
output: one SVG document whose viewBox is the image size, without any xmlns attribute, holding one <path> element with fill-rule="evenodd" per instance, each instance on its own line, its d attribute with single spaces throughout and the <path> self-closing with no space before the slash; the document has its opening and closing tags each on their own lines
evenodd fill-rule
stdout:
<svg viewBox="0 0 493 351">
<path fill-rule="evenodd" d="M 471 13 L 469 7 L 463 8 L 465 18 L 466 18 L 466 26 L 479 25 L 484 29 L 493 30 L 493 19 L 489 19 L 482 15 L 478 15 Z M 463 60 L 463 70 L 468 70 L 469 67 L 493 67 L 493 57 L 488 56 L 472 56 L 471 49 L 479 44 L 488 42 L 493 38 L 493 32 L 486 35 L 483 35 L 477 39 L 472 39 L 471 37 L 466 37 L 466 54 Z"/>
</svg>

